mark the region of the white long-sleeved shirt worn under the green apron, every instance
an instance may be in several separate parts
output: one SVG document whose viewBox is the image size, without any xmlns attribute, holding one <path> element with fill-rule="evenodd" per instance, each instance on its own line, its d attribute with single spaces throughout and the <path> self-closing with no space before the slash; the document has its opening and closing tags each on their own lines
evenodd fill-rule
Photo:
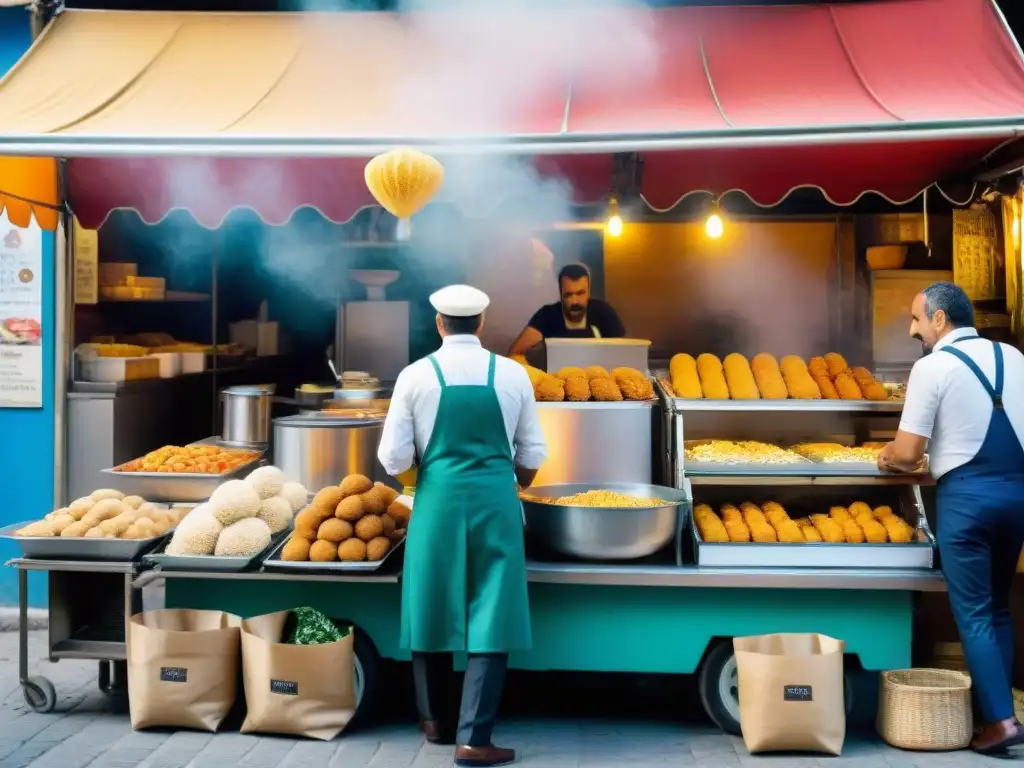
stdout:
<svg viewBox="0 0 1024 768">
<path fill-rule="evenodd" d="M 480 346 L 475 336 L 444 337 L 441 348 L 434 352 L 434 359 L 445 384 L 486 386 L 490 352 Z M 540 469 L 548 458 L 548 446 L 525 369 L 515 360 L 496 356 L 495 393 L 516 466 Z M 398 375 L 377 450 L 377 458 L 389 475 L 404 472 L 418 457 L 422 459 L 434 430 L 440 399 L 440 382 L 426 357 Z"/>
</svg>

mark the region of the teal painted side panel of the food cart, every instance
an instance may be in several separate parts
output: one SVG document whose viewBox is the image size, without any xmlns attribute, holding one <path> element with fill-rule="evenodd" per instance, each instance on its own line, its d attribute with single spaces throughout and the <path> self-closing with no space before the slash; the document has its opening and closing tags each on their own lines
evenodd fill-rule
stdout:
<svg viewBox="0 0 1024 768">
<path fill-rule="evenodd" d="M 867 670 L 910 666 L 910 592 L 530 584 L 529 595 L 534 650 L 513 656 L 518 669 L 689 674 L 716 637 L 775 632 L 845 640 Z M 397 584 L 167 582 L 169 607 L 253 616 L 312 605 L 354 622 L 382 656 L 407 660 L 400 597 Z"/>
</svg>

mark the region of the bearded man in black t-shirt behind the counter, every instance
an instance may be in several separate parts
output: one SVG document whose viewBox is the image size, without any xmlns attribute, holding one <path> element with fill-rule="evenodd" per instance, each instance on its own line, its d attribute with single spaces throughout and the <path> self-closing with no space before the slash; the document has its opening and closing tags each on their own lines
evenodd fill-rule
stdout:
<svg viewBox="0 0 1024 768">
<path fill-rule="evenodd" d="M 509 354 L 525 354 L 544 339 L 616 339 L 626 336 L 618 314 L 600 299 L 590 298 L 590 271 L 569 264 L 558 273 L 561 301 L 545 304 L 512 343 Z"/>
</svg>

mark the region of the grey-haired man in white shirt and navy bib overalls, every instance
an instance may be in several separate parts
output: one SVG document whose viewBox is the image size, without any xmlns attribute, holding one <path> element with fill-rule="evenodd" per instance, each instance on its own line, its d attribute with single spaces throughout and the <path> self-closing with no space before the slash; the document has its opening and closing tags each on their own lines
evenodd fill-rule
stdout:
<svg viewBox="0 0 1024 768">
<path fill-rule="evenodd" d="M 967 294 L 936 283 L 913 300 L 914 364 L 880 469 L 912 471 L 926 450 L 938 481 L 938 539 L 981 728 L 971 746 L 1024 744 L 1014 716 L 1010 591 L 1024 547 L 1024 355 L 982 339 Z"/>
</svg>

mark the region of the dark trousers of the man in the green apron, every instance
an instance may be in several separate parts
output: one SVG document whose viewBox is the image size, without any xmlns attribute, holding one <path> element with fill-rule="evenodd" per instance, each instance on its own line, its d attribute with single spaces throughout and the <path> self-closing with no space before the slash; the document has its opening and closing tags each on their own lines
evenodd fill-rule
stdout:
<svg viewBox="0 0 1024 768">
<path fill-rule="evenodd" d="M 505 687 L 508 653 L 470 653 L 462 685 L 459 730 L 456 743 L 462 746 L 489 746 Z M 451 653 L 413 653 L 416 706 L 420 717 L 450 728 L 452 680 L 455 677 Z"/>
</svg>

